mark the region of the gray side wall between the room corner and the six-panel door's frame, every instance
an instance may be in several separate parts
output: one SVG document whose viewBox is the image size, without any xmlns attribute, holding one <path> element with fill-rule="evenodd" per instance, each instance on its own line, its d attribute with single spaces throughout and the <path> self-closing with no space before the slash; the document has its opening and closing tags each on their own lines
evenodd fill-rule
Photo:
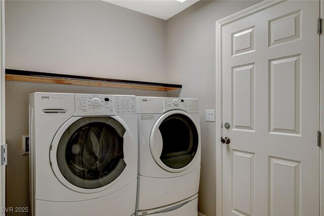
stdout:
<svg viewBox="0 0 324 216">
<path fill-rule="evenodd" d="M 181 97 L 199 99 L 201 175 L 199 212 L 216 214 L 215 122 L 205 111 L 215 110 L 216 21 L 257 1 L 200 1 L 167 20 L 167 82 L 181 83 Z M 178 96 L 178 91 L 168 96 Z"/>
</svg>

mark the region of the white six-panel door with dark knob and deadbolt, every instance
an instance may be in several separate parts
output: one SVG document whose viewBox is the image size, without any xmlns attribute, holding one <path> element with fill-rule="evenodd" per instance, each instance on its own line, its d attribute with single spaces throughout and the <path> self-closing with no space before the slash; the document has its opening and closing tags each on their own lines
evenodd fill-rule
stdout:
<svg viewBox="0 0 324 216">
<path fill-rule="evenodd" d="M 319 215 L 318 17 L 288 1 L 222 26 L 223 215 Z"/>
</svg>

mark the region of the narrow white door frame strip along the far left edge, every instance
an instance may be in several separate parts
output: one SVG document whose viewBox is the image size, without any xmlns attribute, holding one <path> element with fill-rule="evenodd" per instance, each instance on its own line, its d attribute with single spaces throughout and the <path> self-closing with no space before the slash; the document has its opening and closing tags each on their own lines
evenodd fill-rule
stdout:
<svg viewBox="0 0 324 216">
<path fill-rule="evenodd" d="M 0 145 L 6 142 L 5 127 L 5 1 L 0 2 Z M 5 215 L 2 208 L 6 206 L 6 166 L 0 165 L 0 215 Z"/>
</svg>

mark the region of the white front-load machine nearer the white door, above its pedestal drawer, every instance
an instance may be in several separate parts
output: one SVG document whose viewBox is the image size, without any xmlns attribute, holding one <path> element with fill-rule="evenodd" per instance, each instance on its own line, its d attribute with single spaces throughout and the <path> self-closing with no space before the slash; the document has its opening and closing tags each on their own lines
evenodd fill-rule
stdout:
<svg viewBox="0 0 324 216">
<path fill-rule="evenodd" d="M 143 215 L 198 193 L 200 120 L 197 99 L 137 97 L 137 109 L 136 210 Z"/>
</svg>

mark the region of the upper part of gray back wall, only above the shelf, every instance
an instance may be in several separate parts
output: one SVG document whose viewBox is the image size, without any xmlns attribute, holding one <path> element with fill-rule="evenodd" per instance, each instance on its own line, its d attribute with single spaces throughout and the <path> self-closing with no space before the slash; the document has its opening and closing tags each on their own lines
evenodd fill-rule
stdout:
<svg viewBox="0 0 324 216">
<path fill-rule="evenodd" d="M 102 1 L 6 1 L 6 67 L 164 82 L 165 20 Z"/>
</svg>

